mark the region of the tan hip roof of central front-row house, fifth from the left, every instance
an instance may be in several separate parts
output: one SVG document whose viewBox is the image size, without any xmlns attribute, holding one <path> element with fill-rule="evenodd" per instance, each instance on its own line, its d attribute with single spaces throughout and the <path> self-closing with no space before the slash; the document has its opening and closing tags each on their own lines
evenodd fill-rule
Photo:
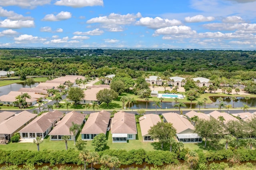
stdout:
<svg viewBox="0 0 256 170">
<path fill-rule="evenodd" d="M 112 134 L 137 134 L 134 114 L 119 111 L 114 114 L 111 127 Z"/>
</svg>

